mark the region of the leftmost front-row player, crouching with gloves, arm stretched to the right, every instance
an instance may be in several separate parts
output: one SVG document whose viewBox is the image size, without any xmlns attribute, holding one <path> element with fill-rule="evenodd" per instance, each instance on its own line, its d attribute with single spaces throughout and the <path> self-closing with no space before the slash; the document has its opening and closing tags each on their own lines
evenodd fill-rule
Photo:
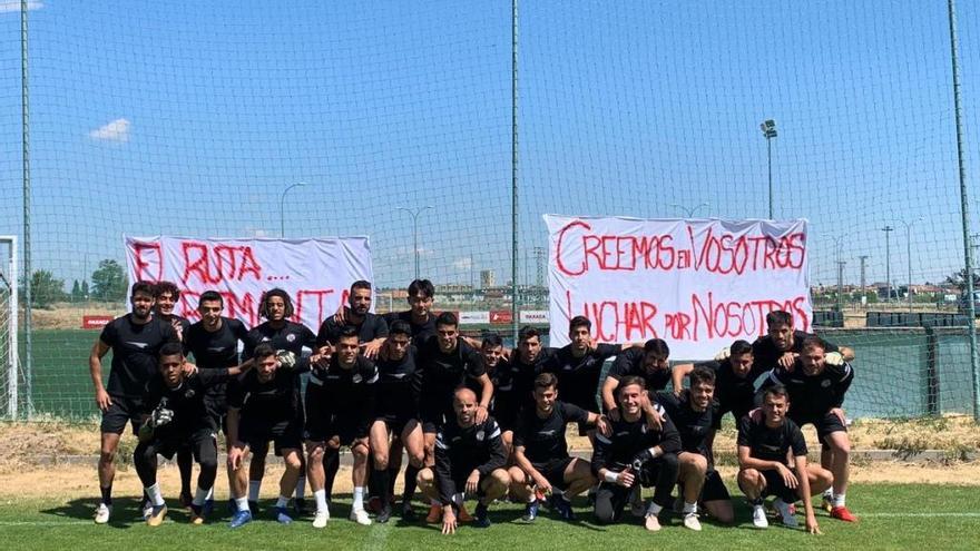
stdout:
<svg viewBox="0 0 980 551">
<path fill-rule="evenodd" d="M 190 522 L 204 523 L 205 501 L 214 488 L 218 470 L 218 427 L 205 405 L 205 391 L 226 383 L 247 366 L 196 370 L 185 362 L 179 344 L 167 343 L 160 347 L 159 374 L 147 383 L 146 420 L 139 430 L 139 445 L 133 452 L 136 472 L 153 506 L 146 520 L 150 527 L 160 525 L 167 515 L 167 505 L 157 484 L 157 454 L 173 459 L 177 450 L 188 443 L 200 465 L 197 491 L 190 502 Z"/>
</svg>

